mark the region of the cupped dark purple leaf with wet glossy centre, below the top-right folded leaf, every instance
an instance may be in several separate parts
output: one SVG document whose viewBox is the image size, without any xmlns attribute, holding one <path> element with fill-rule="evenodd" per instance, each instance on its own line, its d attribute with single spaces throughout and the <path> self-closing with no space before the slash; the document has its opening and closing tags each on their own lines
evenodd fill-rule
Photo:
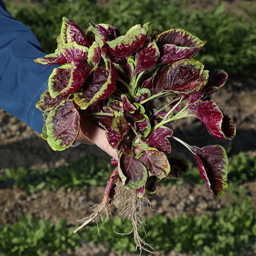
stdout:
<svg viewBox="0 0 256 256">
<path fill-rule="evenodd" d="M 175 93 L 190 94 L 202 86 L 204 65 L 197 60 L 179 60 L 167 72 L 166 90 Z"/>
</svg>

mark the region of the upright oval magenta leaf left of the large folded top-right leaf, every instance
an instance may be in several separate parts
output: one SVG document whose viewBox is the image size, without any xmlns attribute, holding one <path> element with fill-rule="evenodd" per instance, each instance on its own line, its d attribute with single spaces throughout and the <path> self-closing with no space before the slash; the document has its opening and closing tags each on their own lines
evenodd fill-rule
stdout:
<svg viewBox="0 0 256 256">
<path fill-rule="evenodd" d="M 159 57 L 159 50 L 156 43 L 144 44 L 136 54 L 136 73 L 153 68 Z"/>
</svg>

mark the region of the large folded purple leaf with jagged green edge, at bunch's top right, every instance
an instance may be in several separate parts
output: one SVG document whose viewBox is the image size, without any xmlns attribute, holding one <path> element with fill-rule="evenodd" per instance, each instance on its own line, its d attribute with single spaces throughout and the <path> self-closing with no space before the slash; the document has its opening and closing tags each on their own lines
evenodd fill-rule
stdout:
<svg viewBox="0 0 256 256">
<path fill-rule="evenodd" d="M 204 46 L 205 41 L 183 29 L 173 28 L 160 34 L 156 44 L 160 47 L 159 63 L 172 64 L 193 57 Z"/>
</svg>

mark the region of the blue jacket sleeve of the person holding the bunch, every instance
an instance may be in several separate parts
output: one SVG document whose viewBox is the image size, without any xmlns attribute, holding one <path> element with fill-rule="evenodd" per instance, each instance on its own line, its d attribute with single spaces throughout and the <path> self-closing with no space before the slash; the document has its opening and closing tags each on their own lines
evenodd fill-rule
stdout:
<svg viewBox="0 0 256 256">
<path fill-rule="evenodd" d="M 44 57 L 36 36 L 15 20 L 0 0 L 0 108 L 28 124 L 38 133 L 43 112 L 35 107 L 48 87 L 48 77 L 58 65 L 37 64 Z"/>
</svg>

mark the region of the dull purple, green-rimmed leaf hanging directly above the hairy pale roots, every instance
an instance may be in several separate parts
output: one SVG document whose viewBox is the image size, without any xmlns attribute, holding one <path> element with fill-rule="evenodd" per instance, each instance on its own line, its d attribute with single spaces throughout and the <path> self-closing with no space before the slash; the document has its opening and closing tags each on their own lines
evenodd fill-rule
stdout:
<svg viewBox="0 0 256 256">
<path fill-rule="evenodd" d="M 122 153 L 118 160 L 118 174 L 126 189 L 138 189 L 145 185 L 148 172 L 145 165 L 133 156 Z"/>
</svg>

